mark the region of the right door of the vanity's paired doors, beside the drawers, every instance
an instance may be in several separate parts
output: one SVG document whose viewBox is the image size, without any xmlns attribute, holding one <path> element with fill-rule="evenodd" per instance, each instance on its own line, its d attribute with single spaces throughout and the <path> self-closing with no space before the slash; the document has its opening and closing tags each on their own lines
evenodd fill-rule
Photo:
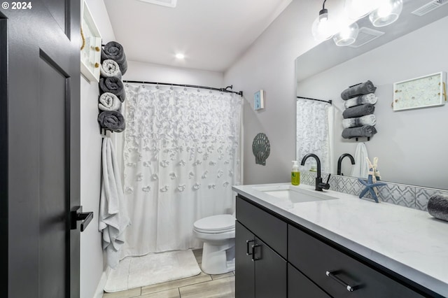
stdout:
<svg viewBox="0 0 448 298">
<path fill-rule="evenodd" d="M 286 298 L 286 260 L 255 238 L 255 297 Z"/>
</svg>

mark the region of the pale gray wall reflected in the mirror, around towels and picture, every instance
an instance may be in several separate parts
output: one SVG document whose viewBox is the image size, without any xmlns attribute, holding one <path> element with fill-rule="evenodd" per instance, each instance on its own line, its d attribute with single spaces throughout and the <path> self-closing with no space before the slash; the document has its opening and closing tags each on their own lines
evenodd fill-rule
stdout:
<svg viewBox="0 0 448 298">
<path fill-rule="evenodd" d="M 348 62 L 302 80 L 298 93 L 307 97 L 335 99 L 335 157 L 344 152 L 354 155 L 356 141 L 341 137 L 340 93 L 348 86 L 372 80 L 377 86 L 378 102 L 374 115 L 378 133 L 365 142 L 369 157 L 379 158 L 382 179 L 396 183 L 448 189 L 444 166 L 448 139 L 448 106 L 393 111 L 393 83 L 430 73 L 448 71 L 446 35 L 448 17 L 429 24 Z M 321 88 L 325 85 L 325 88 Z M 344 159 L 343 173 L 350 173 Z M 336 169 L 334 169 L 334 173 Z"/>
</svg>

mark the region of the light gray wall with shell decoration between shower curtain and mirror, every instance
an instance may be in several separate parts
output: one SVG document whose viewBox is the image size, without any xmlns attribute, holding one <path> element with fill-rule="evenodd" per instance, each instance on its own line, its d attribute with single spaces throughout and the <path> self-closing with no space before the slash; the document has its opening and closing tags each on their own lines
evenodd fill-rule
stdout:
<svg viewBox="0 0 448 298">
<path fill-rule="evenodd" d="M 341 11 L 343 1 L 328 1 L 330 13 Z M 294 0 L 225 73 L 225 84 L 243 90 L 244 184 L 290 180 L 295 159 L 295 58 L 316 45 L 311 24 L 322 1 Z M 253 94 L 265 90 L 265 109 L 253 111 Z M 252 141 L 267 135 L 271 152 L 266 165 L 255 164 Z"/>
</svg>

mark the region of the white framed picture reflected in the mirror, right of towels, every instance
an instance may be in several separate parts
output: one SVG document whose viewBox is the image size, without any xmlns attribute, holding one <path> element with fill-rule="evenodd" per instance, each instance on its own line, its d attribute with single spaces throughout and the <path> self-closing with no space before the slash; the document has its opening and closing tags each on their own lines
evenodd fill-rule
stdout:
<svg viewBox="0 0 448 298">
<path fill-rule="evenodd" d="M 442 106 L 447 101 L 446 73 L 402 80 L 393 84 L 393 111 Z"/>
</svg>

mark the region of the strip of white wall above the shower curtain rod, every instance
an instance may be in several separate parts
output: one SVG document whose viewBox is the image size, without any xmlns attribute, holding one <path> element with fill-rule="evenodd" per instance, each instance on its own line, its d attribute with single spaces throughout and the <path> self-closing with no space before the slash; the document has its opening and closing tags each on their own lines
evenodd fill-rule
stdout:
<svg viewBox="0 0 448 298">
<path fill-rule="evenodd" d="M 223 73 L 220 72 L 184 69 L 130 60 L 127 62 L 127 72 L 123 76 L 123 80 L 226 87 L 223 85 Z"/>
</svg>

